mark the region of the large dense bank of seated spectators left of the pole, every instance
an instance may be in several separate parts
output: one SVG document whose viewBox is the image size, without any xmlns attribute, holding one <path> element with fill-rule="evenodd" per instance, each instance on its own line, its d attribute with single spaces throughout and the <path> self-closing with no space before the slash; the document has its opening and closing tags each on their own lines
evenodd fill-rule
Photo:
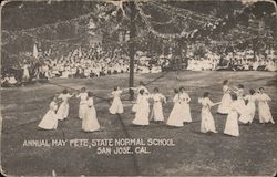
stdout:
<svg viewBox="0 0 277 177">
<path fill-rule="evenodd" d="M 103 52 L 96 49 L 75 49 L 60 59 L 49 60 L 48 77 L 94 77 L 124 73 L 129 62 L 120 52 Z"/>
</svg>

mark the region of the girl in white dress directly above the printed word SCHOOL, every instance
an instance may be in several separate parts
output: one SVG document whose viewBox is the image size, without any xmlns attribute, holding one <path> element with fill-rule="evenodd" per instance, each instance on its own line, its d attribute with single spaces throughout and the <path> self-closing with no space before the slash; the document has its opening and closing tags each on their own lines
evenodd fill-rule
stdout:
<svg viewBox="0 0 277 177">
<path fill-rule="evenodd" d="M 154 119 L 157 123 L 161 123 L 164 121 L 164 114 L 163 114 L 163 103 L 166 103 L 166 98 L 163 94 L 158 93 L 158 88 L 154 88 L 154 94 L 151 95 L 151 98 L 153 100 L 153 110 L 151 114 L 150 119 Z"/>
</svg>

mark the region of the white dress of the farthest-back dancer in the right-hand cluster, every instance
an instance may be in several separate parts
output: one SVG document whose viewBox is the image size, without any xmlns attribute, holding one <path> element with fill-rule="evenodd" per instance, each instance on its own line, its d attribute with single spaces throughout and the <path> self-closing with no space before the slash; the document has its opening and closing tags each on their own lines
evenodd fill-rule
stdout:
<svg viewBox="0 0 277 177">
<path fill-rule="evenodd" d="M 220 114 L 228 114 L 229 106 L 232 103 L 232 97 L 229 94 L 229 87 L 227 85 L 223 86 L 223 93 L 224 93 L 224 95 L 222 98 L 222 103 L 219 104 L 217 112 Z"/>
</svg>

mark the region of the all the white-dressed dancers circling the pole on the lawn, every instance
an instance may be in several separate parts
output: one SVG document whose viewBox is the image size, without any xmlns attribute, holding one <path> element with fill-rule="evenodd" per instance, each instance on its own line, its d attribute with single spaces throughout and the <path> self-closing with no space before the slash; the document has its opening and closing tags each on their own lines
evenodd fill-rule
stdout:
<svg viewBox="0 0 277 177">
<path fill-rule="evenodd" d="M 134 125 L 147 126 L 151 121 L 158 124 L 165 122 L 163 114 L 163 104 L 167 103 L 166 97 L 160 93 L 158 87 L 150 93 L 143 82 L 140 82 L 137 87 L 130 87 L 136 91 L 136 102 L 133 104 L 132 112 L 135 113 L 135 117 L 132 121 Z M 111 114 L 122 114 L 124 107 L 121 101 L 121 94 L 130 88 L 121 90 L 119 86 L 110 94 L 113 98 L 109 108 Z M 189 102 L 191 97 L 185 87 L 179 87 L 175 91 L 173 97 L 174 106 L 166 121 L 166 125 L 173 127 L 182 127 L 184 124 L 192 123 Z M 259 123 L 275 124 L 268 101 L 270 97 L 265 93 L 265 88 L 249 90 L 249 94 L 245 96 L 244 85 L 238 84 L 235 87 L 228 86 L 228 80 L 223 82 L 224 95 L 222 101 L 213 103 L 209 98 L 209 93 L 205 92 L 202 97 L 198 98 L 198 103 L 202 105 L 201 111 L 201 132 L 202 133 L 217 133 L 215 128 L 214 117 L 211 113 L 211 108 L 218 105 L 217 113 L 227 115 L 224 134 L 232 136 L 239 136 L 239 122 L 242 124 L 250 124 L 254 119 L 256 112 L 256 102 L 258 102 L 258 115 Z M 94 132 L 100 129 L 100 124 L 96 118 L 96 111 L 93 104 L 92 92 L 86 92 L 85 87 L 75 93 L 70 93 L 64 90 L 61 94 L 55 94 L 50 103 L 50 110 L 44 115 L 39 124 L 39 127 L 43 129 L 57 129 L 58 121 L 66 119 L 69 116 L 69 100 L 75 96 L 80 98 L 79 105 L 79 118 L 82 119 L 82 129 L 84 132 Z M 152 110 L 151 110 L 152 103 Z"/>
</svg>

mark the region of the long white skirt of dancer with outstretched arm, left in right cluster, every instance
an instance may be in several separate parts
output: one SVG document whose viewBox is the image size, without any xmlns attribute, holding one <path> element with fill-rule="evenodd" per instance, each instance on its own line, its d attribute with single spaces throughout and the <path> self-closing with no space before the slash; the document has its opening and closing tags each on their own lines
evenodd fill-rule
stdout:
<svg viewBox="0 0 277 177">
<path fill-rule="evenodd" d="M 207 132 L 216 132 L 215 128 L 215 121 L 211 113 L 211 111 L 207 107 L 203 107 L 201 112 L 201 132 L 207 133 Z"/>
</svg>

